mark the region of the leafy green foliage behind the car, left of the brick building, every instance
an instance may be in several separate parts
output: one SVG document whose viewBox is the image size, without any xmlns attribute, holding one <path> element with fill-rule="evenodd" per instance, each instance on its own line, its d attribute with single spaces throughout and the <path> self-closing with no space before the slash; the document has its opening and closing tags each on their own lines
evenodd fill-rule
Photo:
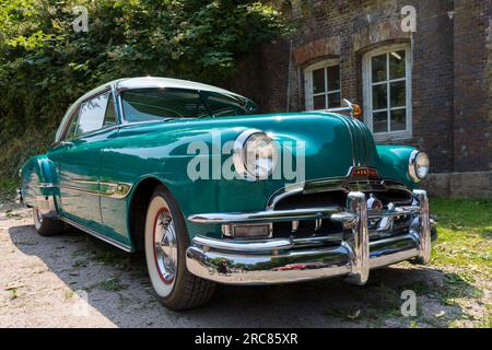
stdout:
<svg viewBox="0 0 492 350">
<path fill-rule="evenodd" d="M 72 27 L 75 5 L 87 33 Z M 289 32 L 270 5 L 245 0 L 0 0 L 0 177 L 45 151 L 90 89 L 148 74 L 220 83 Z"/>
</svg>

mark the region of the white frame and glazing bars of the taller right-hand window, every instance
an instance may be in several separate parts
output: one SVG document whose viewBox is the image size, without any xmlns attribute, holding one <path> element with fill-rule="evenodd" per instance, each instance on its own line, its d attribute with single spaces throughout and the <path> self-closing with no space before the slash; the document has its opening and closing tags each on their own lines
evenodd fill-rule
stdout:
<svg viewBox="0 0 492 350">
<path fill-rule="evenodd" d="M 394 51 L 401 51 L 405 50 L 405 58 L 406 58 L 406 89 L 407 89 L 407 101 L 406 101 L 406 108 L 407 108 L 407 125 L 406 130 L 399 130 L 399 131 L 387 131 L 387 132 L 377 132 L 374 133 L 373 131 L 373 67 L 372 67 L 372 58 L 375 56 L 379 56 L 383 54 L 394 52 Z M 390 46 L 385 46 L 379 49 L 373 50 L 371 52 L 367 52 L 364 55 L 362 60 L 362 80 L 363 80 L 363 100 L 364 100 L 364 120 L 367 127 L 373 131 L 374 139 L 376 141 L 387 141 L 387 140 L 408 140 L 412 138 L 412 52 L 410 48 L 410 44 L 396 44 Z M 389 72 L 389 61 L 386 61 L 386 69 L 387 72 Z M 388 122 L 390 122 L 390 112 L 391 110 L 391 96 L 390 96 L 390 90 L 389 84 L 393 82 L 402 81 L 403 78 L 400 79 L 394 79 L 390 80 L 389 77 L 386 77 L 386 81 L 384 81 L 387 84 L 387 91 L 389 94 L 388 98 Z M 382 82 L 379 82 L 380 84 Z M 376 83 L 377 84 L 377 83 Z M 395 109 L 395 108 L 394 108 Z M 401 108 L 402 109 L 402 108 Z M 388 128 L 389 128 L 388 124 Z"/>
</svg>

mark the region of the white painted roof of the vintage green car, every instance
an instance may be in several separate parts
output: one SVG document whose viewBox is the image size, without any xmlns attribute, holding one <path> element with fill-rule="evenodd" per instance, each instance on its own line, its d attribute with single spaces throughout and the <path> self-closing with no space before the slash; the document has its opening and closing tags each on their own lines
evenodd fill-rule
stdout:
<svg viewBox="0 0 492 350">
<path fill-rule="evenodd" d="M 198 91 L 207 91 L 207 92 L 214 92 L 219 94 L 229 95 L 235 98 L 238 98 L 243 101 L 244 103 L 249 102 L 250 100 L 247 97 L 244 97 L 242 95 L 238 95 L 236 93 L 233 93 L 231 91 L 227 91 L 225 89 L 216 88 L 213 85 L 208 85 L 203 83 L 198 83 L 194 81 L 188 80 L 180 80 L 180 79 L 173 79 L 173 78 L 160 78 L 160 77 L 138 77 L 138 78 L 122 78 L 113 80 L 110 82 L 107 82 L 103 85 L 99 85 L 87 93 L 83 94 L 81 97 L 79 97 L 67 110 L 67 113 L 63 116 L 63 119 L 60 122 L 60 126 L 58 127 L 57 135 L 55 137 L 55 142 L 58 142 L 61 139 L 62 132 L 65 130 L 66 124 L 68 122 L 70 116 L 72 115 L 73 110 L 77 108 L 79 104 L 81 104 L 83 101 L 89 100 L 90 97 L 97 95 L 108 89 L 115 88 L 117 92 L 125 91 L 125 90 L 134 90 L 134 89 L 152 89 L 152 88 L 159 88 L 159 89 L 187 89 L 187 90 L 198 90 Z"/>
</svg>

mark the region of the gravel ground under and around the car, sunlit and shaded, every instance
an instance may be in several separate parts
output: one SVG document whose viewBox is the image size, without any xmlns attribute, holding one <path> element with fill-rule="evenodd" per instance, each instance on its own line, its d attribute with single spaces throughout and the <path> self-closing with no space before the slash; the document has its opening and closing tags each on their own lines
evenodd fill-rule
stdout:
<svg viewBox="0 0 492 350">
<path fill-rule="evenodd" d="M 80 231 L 36 234 L 31 211 L 0 203 L 0 327 L 489 327 L 490 280 L 403 262 L 363 288 L 331 279 L 220 287 L 198 310 L 159 304 L 145 262 Z M 401 292 L 417 294 L 403 317 Z M 86 296 L 86 298 L 85 298 Z"/>
</svg>

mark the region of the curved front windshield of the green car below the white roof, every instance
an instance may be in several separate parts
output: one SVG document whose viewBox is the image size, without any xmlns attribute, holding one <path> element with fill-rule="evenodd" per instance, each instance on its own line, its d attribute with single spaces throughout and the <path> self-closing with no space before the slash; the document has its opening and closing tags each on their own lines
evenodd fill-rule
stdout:
<svg viewBox="0 0 492 350">
<path fill-rule="evenodd" d="M 215 92 L 180 89 L 137 89 L 121 93 L 125 119 L 129 122 L 237 116 L 254 112 L 245 101 Z"/>
</svg>

